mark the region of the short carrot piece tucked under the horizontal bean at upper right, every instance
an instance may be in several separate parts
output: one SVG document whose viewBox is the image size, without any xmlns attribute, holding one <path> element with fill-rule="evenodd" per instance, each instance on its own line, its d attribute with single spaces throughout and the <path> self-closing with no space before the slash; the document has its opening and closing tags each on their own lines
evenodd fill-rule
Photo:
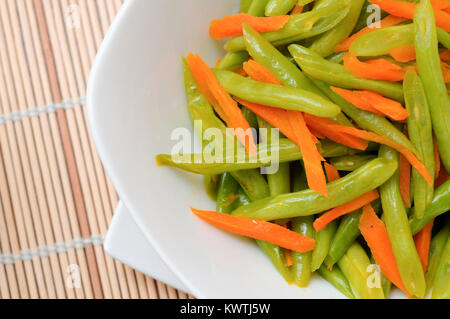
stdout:
<svg viewBox="0 0 450 319">
<path fill-rule="evenodd" d="M 386 59 L 362 62 L 350 52 L 343 59 L 347 71 L 360 78 L 398 82 L 405 76 L 405 71 L 400 66 Z"/>
</svg>

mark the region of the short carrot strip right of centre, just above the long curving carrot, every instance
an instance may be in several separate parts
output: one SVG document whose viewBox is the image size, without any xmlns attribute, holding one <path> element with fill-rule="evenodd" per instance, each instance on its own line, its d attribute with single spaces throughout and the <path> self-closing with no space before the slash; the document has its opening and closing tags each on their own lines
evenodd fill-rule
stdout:
<svg viewBox="0 0 450 319">
<path fill-rule="evenodd" d="M 405 109 L 403 105 L 397 101 L 388 99 L 379 93 L 363 90 L 356 91 L 356 94 L 378 112 L 385 114 L 394 121 L 403 121 L 409 116 L 408 110 Z"/>
</svg>

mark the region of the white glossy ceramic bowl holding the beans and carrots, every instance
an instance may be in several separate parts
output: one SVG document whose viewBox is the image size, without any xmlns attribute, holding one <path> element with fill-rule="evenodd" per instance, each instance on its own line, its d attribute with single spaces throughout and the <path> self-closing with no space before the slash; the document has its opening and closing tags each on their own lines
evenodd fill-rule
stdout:
<svg viewBox="0 0 450 319">
<path fill-rule="evenodd" d="M 157 167 L 173 129 L 191 128 L 181 56 L 211 65 L 224 54 L 209 22 L 237 12 L 237 0 L 128 0 L 98 54 L 88 111 L 100 156 L 120 198 L 171 270 L 199 298 L 343 298 L 313 276 L 285 283 L 254 241 L 199 220 L 189 206 L 215 208 L 199 176 Z M 133 249 L 133 247 L 130 247 Z"/>
</svg>

